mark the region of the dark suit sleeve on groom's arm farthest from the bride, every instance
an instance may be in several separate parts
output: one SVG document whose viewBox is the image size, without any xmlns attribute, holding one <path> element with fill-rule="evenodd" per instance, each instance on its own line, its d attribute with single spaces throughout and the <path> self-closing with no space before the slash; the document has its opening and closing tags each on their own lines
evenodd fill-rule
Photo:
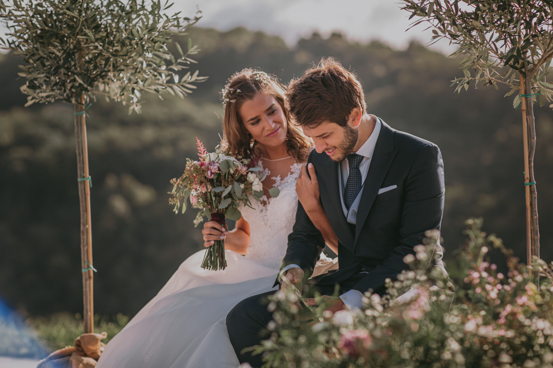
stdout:
<svg viewBox="0 0 553 368">
<path fill-rule="evenodd" d="M 415 253 L 413 248 L 422 244 L 427 230 L 440 230 L 444 193 L 444 162 L 440 149 L 430 143 L 419 151 L 406 179 L 398 245 L 352 289 L 362 293 L 372 289 L 381 294 L 387 278 L 396 280 L 408 268 L 403 258 Z"/>
</svg>

